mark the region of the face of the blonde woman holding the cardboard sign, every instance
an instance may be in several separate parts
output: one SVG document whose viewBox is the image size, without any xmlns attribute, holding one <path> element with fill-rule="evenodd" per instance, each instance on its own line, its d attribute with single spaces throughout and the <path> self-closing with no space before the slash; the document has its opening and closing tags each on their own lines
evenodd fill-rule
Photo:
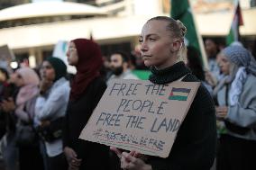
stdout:
<svg viewBox="0 0 256 170">
<path fill-rule="evenodd" d="M 173 51 L 179 49 L 180 44 L 171 39 L 167 25 L 168 22 L 152 20 L 143 26 L 139 41 L 146 67 L 162 69 L 176 63 Z"/>
</svg>

